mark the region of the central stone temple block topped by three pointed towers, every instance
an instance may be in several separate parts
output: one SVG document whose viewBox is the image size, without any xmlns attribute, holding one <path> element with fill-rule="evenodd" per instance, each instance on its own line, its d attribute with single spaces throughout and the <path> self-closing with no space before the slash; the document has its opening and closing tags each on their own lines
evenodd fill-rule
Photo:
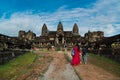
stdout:
<svg viewBox="0 0 120 80">
<path fill-rule="evenodd" d="M 79 35 L 79 29 L 76 23 L 72 31 L 65 31 L 62 23 L 59 22 L 56 31 L 48 31 L 46 24 L 44 24 L 41 36 L 34 40 L 34 44 L 36 47 L 41 47 L 42 45 L 44 45 L 44 47 L 47 45 L 71 45 L 75 42 L 79 42 L 80 39 L 81 36 Z"/>
</svg>

